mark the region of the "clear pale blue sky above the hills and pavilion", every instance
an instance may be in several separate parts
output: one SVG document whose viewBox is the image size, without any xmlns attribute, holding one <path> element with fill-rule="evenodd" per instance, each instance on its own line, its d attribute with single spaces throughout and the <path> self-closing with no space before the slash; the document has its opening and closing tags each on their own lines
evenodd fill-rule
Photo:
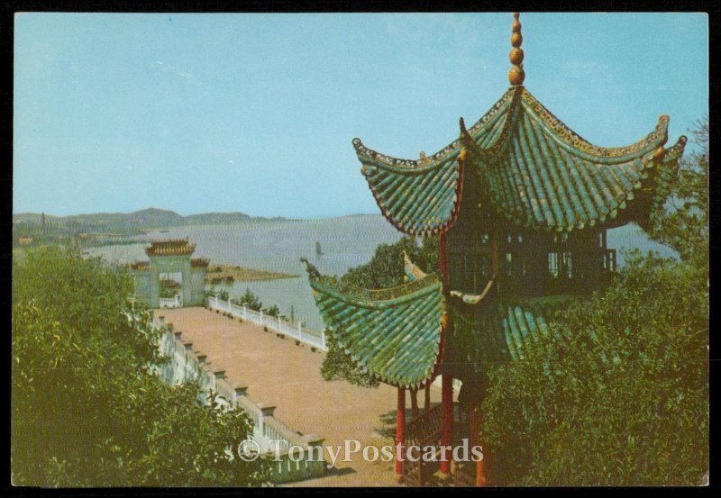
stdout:
<svg viewBox="0 0 721 498">
<path fill-rule="evenodd" d="M 706 14 L 521 14 L 525 87 L 617 147 L 707 114 Z M 351 140 L 443 149 L 511 14 L 16 14 L 14 213 L 379 213 Z"/>
</svg>

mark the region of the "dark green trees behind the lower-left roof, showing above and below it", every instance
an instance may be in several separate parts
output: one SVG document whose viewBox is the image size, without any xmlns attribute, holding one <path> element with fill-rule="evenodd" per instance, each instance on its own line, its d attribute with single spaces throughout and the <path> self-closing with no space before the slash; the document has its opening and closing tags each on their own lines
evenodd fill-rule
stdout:
<svg viewBox="0 0 721 498">
<path fill-rule="evenodd" d="M 440 273 L 439 246 L 437 238 L 424 239 L 419 247 L 415 239 L 404 237 L 395 244 L 381 244 L 373 258 L 365 265 L 353 267 L 342 276 L 351 285 L 366 289 L 381 289 L 402 285 L 404 271 L 403 251 L 408 258 L 426 273 Z M 379 381 L 363 372 L 333 337 L 333 330 L 326 330 L 326 347 L 321 374 L 325 380 L 344 379 L 353 385 L 378 387 Z"/>
</svg>

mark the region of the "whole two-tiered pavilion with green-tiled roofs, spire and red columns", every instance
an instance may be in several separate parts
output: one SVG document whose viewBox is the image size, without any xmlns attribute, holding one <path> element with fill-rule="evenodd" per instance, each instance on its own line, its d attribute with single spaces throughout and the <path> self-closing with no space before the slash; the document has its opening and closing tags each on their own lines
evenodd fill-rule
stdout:
<svg viewBox="0 0 721 498">
<path fill-rule="evenodd" d="M 441 275 L 406 260 L 406 285 L 366 290 L 321 276 L 308 264 L 315 303 L 330 333 L 364 371 L 397 386 L 397 445 L 453 441 L 452 379 L 469 403 L 471 444 L 479 434 L 485 373 L 524 358 L 543 341 L 546 319 L 605 285 L 616 270 L 606 231 L 648 228 L 669 193 L 686 144 L 665 148 L 669 117 L 619 148 L 590 144 L 523 86 L 518 14 L 512 27 L 510 88 L 446 148 L 391 158 L 353 140 L 381 213 L 398 231 L 440 237 Z M 406 423 L 406 390 L 442 378 L 443 402 Z M 426 397 L 427 399 L 427 397 Z M 465 428 L 464 428 L 465 429 Z M 441 461 L 443 475 L 451 473 Z M 422 467 L 397 460 L 399 480 Z M 484 484 L 483 462 L 475 469 Z"/>
</svg>

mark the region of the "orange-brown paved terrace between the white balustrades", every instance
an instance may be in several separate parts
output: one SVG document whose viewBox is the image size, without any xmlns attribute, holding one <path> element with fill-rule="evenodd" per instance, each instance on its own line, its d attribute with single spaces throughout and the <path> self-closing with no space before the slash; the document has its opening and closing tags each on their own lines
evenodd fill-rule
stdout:
<svg viewBox="0 0 721 498">
<path fill-rule="evenodd" d="M 342 446 L 346 439 L 358 439 L 361 448 L 379 443 L 379 431 L 395 433 L 397 389 L 381 384 L 377 389 L 345 381 L 324 381 L 320 374 L 324 353 L 311 351 L 295 340 L 282 340 L 274 332 L 248 321 L 230 319 L 205 308 L 156 310 L 165 316 L 183 339 L 192 340 L 214 367 L 225 369 L 231 384 L 248 385 L 255 403 L 276 405 L 275 416 L 304 434 L 325 439 L 324 446 Z M 418 403 L 423 410 L 423 391 Z M 440 403 L 441 391 L 432 386 L 432 403 Z M 410 412 L 410 400 L 406 401 Z M 410 413 L 408 413 L 410 415 Z M 392 436 L 391 436 L 392 437 Z M 385 443 L 392 444 L 392 439 Z M 339 457 L 339 460 L 341 457 Z M 330 458 L 326 461 L 330 463 Z M 368 463 L 360 453 L 351 462 L 336 461 L 322 478 L 287 484 L 295 486 L 392 486 L 393 462 Z"/>
</svg>

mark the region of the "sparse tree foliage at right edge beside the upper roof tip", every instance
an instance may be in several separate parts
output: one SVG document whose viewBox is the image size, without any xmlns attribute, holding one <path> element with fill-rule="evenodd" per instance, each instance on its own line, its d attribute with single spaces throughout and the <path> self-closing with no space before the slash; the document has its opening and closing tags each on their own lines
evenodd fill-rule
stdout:
<svg viewBox="0 0 721 498">
<path fill-rule="evenodd" d="M 696 149 L 680 159 L 679 175 L 671 180 L 664 213 L 656 217 L 652 236 L 696 265 L 708 260 L 708 118 L 690 130 Z"/>
</svg>

